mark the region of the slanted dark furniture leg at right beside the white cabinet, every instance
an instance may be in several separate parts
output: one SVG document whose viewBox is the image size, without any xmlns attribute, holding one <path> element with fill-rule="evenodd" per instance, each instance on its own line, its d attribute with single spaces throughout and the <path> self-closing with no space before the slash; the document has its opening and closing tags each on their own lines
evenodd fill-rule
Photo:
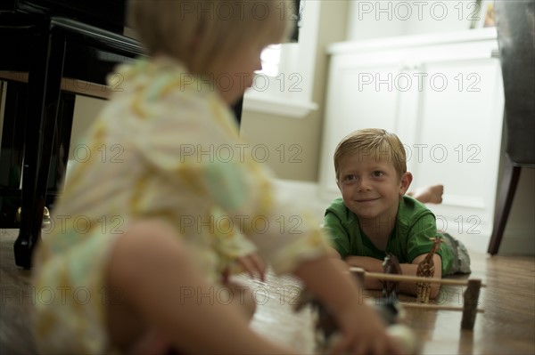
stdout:
<svg viewBox="0 0 535 355">
<path fill-rule="evenodd" d="M 494 212 L 492 236 L 490 237 L 489 249 L 487 250 L 491 255 L 498 254 L 499 245 L 504 236 L 504 230 L 506 230 L 507 218 L 513 205 L 514 192 L 520 179 L 521 170 L 521 166 L 515 166 L 511 159 L 506 156 L 503 181 L 498 192 L 498 206 L 496 206 L 496 211 Z"/>
</svg>

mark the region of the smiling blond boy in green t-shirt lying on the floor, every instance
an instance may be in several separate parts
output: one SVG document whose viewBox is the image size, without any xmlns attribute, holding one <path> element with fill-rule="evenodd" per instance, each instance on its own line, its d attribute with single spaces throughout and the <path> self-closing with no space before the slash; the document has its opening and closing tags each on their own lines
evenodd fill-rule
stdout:
<svg viewBox="0 0 535 355">
<path fill-rule="evenodd" d="M 383 129 L 362 129 L 342 139 L 334 152 L 336 182 L 342 198 L 325 212 L 324 228 L 332 238 L 337 256 L 351 266 L 382 272 L 387 252 L 399 258 L 406 275 L 416 269 L 432 249 L 430 238 L 437 236 L 435 216 L 415 198 L 406 196 L 413 180 L 407 172 L 405 149 L 398 136 Z M 446 243 L 433 256 L 435 278 L 461 268 L 466 260 L 464 246 L 443 235 Z M 462 258 L 458 253 L 463 254 Z M 366 283 L 381 288 L 378 280 Z M 400 292 L 416 294 L 416 285 L 401 284 Z M 439 292 L 433 284 L 432 298 Z"/>
</svg>

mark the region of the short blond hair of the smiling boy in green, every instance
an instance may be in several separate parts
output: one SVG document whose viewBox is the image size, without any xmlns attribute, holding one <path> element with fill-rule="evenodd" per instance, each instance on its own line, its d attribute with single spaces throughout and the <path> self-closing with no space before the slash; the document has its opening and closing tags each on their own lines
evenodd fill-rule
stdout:
<svg viewBox="0 0 535 355">
<path fill-rule="evenodd" d="M 379 128 L 366 128 L 345 136 L 334 150 L 334 171 L 338 178 L 338 165 L 343 157 L 358 154 L 359 157 L 387 159 L 394 165 L 398 178 L 407 173 L 407 155 L 403 143 L 396 134 Z"/>
</svg>

